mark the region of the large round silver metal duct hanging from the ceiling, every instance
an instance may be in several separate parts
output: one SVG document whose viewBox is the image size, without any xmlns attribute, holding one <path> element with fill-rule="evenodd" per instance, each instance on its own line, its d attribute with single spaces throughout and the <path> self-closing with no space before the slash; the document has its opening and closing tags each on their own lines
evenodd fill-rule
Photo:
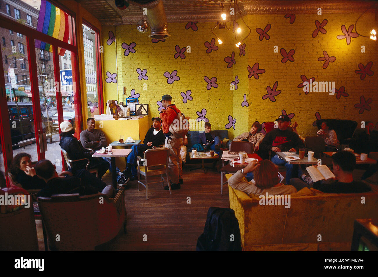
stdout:
<svg viewBox="0 0 378 277">
<path fill-rule="evenodd" d="M 167 27 L 167 16 L 164 11 L 163 1 L 159 0 L 127 0 L 132 5 L 147 8 L 147 19 L 150 23 L 150 38 L 162 40 L 170 37 Z"/>
</svg>

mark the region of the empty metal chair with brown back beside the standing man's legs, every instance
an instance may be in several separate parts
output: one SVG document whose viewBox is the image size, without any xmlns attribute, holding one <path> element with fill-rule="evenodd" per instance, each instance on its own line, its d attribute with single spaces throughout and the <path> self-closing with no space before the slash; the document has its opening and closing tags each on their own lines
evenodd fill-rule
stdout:
<svg viewBox="0 0 378 277">
<path fill-rule="evenodd" d="M 161 175 L 161 181 L 150 182 L 151 183 L 161 183 L 164 186 L 163 174 L 166 174 L 167 185 L 169 188 L 169 193 L 172 194 L 170 189 L 169 179 L 168 179 L 168 163 L 169 163 L 169 149 L 168 148 L 155 148 L 147 149 L 144 152 L 144 159 L 138 156 L 137 160 L 138 166 L 138 191 L 139 183 L 146 188 L 146 199 L 148 199 L 148 177 L 154 175 Z M 146 183 L 139 181 L 139 174 L 145 176 Z"/>
</svg>

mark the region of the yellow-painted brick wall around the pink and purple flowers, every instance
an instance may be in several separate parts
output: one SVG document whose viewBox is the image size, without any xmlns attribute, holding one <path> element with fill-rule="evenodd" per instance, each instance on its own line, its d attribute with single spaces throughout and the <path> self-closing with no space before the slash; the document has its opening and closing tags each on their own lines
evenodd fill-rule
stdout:
<svg viewBox="0 0 378 277">
<path fill-rule="evenodd" d="M 236 118 L 235 131 L 232 127 L 229 129 L 231 138 L 248 131 L 255 120 L 259 120 L 260 123 L 274 121 L 282 110 L 287 114 L 295 114 L 293 122 L 298 122 L 298 133 L 303 136 L 315 134 L 316 127 L 312 123 L 316 120 L 316 112 L 319 112 L 323 119 L 338 118 L 357 122 L 371 120 L 376 123 L 378 115 L 375 103 L 378 86 L 376 73 L 360 80 L 360 75 L 356 74 L 355 70 L 359 70 L 359 63 L 366 66 L 371 61 L 373 62 L 371 69 L 376 71 L 377 42 L 360 36 L 352 38 L 350 45 L 347 45 L 345 39 L 336 38 L 337 35 L 342 35 L 341 25 L 345 25 L 348 29 L 350 25 L 355 24 L 359 15 L 359 13 L 335 14 L 327 11 L 317 15 L 314 11 L 312 15 L 297 14 L 293 24 L 289 23 L 289 18 L 285 18 L 284 14 L 247 15 L 244 19 L 251 27 L 251 34 L 243 42 L 246 43 L 246 54 L 241 57 L 239 49 L 235 47 L 237 40 L 232 31 L 218 30 L 218 28 L 214 32 L 223 40 L 223 44 L 219 45 L 216 41 L 215 45 L 219 46 L 219 49 L 206 53 L 207 48 L 204 43 L 210 42 L 214 37 L 210 31 L 215 24 L 213 22 L 197 23 L 197 31 L 186 29 L 186 23 L 170 23 L 168 29 L 171 37 L 165 42 L 158 43 L 151 42 L 147 37 L 149 32 L 141 34 L 136 31 L 135 25 L 121 25 L 113 28 L 116 43 L 107 46 L 108 34 L 104 29 L 102 32 L 104 57 L 107 49 L 116 49 L 116 55 L 111 54 L 111 58 L 104 58 L 104 74 L 107 71 L 113 73 L 116 62 L 118 80 L 116 84 L 104 82 L 104 98 L 105 100 L 115 98 L 118 89 L 118 98 L 122 101 L 124 86 L 127 88 L 127 96 L 130 96 L 130 91 L 135 89 L 135 93 L 140 94 L 139 102 L 149 104 L 149 118 L 151 118 L 158 116 L 159 106 L 156 102 L 161 100 L 163 94 L 170 94 L 177 107 L 192 118 L 197 118 L 197 112 L 206 109 L 206 118 L 212 123 L 212 129 L 224 129 L 229 122 L 229 115 Z M 376 22 L 373 16 L 374 14 L 370 14 L 370 18 L 359 20 L 360 33 L 369 21 Z M 326 34 L 319 32 L 313 38 L 312 33 L 316 29 L 315 20 L 322 23 L 324 19 L 328 20 L 327 25 L 324 26 Z M 268 23 L 271 24 L 271 29 L 267 32 L 270 39 L 263 38 L 260 41 L 256 28 L 264 29 Z M 247 30 L 240 20 L 239 24 L 243 30 L 242 34 L 246 34 Z M 243 36 L 239 35 L 238 40 L 240 38 Z M 122 43 L 130 45 L 132 42 L 136 43 L 135 53 L 130 52 L 125 56 Z M 184 53 L 185 59 L 174 58 L 176 45 L 180 48 L 191 47 L 190 53 Z M 274 46 L 278 48 L 277 53 L 274 52 Z M 365 53 L 361 53 L 361 46 L 365 46 Z M 287 52 L 290 49 L 295 50 L 294 62 L 281 62 L 281 48 Z M 236 64 L 227 68 L 224 58 L 231 56 L 233 51 Z M 336 57 L 335 62 L 329 63 L 326 69 L 322 68 L 324 62 L 318 61 L 319 57 L 323 57 L 323 51 L 327 51 L 329 56 Z M 265 73 L 259 74 L 258 80 L 254 77 L 248 78 L 247 66 L 253 67 L 255 63 L 259 63 L 260 69 L 265 69 Z M 148 80 L 138 80 L 137 68 L 147 69 Z M 174 70 L 177 70 L 180 80 L 168 84 L 163 74 L 165 71 L 171 73 Z M 297 88 L 303 82 L 300 77 L 302 74 L 307 78 L 314 77 L 317 82 L 333 81 L 336 89 L 344 86 L 349 96 L 336 99 L 336 93 L 335 95 L 329 95 L 329 92 L 305 94 L 303 88 Z M 236 75 L 239 78 L 238 88 L 231 90 L 230 83 L 234 81 Z M 216 77 L 218 88 L 206 89 L 204 76 Z M 266 87 L 273 88 L 276 81 L 277 90 L 281 91 L 275 97 L 276 102 L 271 102 L 269 98 L 263 100 L 263 95 L 267 94 Z M 143 90 L 144 84 L 147 85 L 147 90 Z M 180 93 L 185 93 L 187 90 L 191 90 L 193 100 L 183 103 Z M 244 94 L 248 107 L 241 106 Z M 373 101 L 369 104 L 370 111 L 364 110 L 359 114 L 359 108 L 355 108 L 355 104 L 359 104 L 361 95 L 366 100 L 372 98 Z"/>
</svg>

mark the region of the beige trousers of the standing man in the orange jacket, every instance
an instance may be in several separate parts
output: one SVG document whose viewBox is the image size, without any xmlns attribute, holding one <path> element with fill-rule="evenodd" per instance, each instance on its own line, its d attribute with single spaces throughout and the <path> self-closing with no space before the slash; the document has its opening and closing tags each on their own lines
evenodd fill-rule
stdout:
<svg viewBox="0 0 378 277">
<path fill-rule="evenodd" d="M 182 179 L 183 163 L 180 155 L 181 138 L 172 136 L 172 139 L 166 138 L 165 147 L 169 149 L 168 173 L 172 183 L 177 184 L 178 179 Z"/>
</svg>

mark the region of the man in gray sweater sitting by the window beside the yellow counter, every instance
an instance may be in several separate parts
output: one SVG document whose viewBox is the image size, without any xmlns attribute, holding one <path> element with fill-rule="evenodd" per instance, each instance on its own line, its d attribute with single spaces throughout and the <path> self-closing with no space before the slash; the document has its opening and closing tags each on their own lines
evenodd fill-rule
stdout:
<svg viewBox="0 0 378 277">
<path fill-rule="evenodd" d="M 103 131 L 99 129 L 95 129 L 96 121 L 95 118 L 88 118 L 87 119 L 87 129 L 80 133 L 80 142 L 84 146 L 84 148 L 91 148 L 93 150 L 99 150 L 102 147 L 107 147 L 108 143 L 105 138 L 105 134 Z M 110 159 L 107 157 L 102 158 L 106 160 L 110 164 L 110 172 L 112 172 L 112 164 Z M 116 167 L 116 174 L 117 174 L 117 183 L 120 186 L 125 186 L 127 182 L 129 182 L 130 178 L 128 178 L 125 174 Z"/>
</svg>

